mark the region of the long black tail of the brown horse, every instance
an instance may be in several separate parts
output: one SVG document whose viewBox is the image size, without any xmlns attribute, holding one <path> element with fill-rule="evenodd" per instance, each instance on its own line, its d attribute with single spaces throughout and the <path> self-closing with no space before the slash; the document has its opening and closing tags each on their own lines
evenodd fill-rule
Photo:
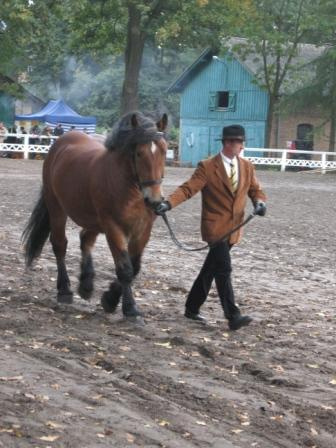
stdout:
<svg viewBox="0 0 336 448">
<path fill-rule="evenodd" d="M 40 197 L 22 233 L 27 266 L 30 266 L 34 259 L 41 255 L 44 243 L 46 242 L 49 234 L 49 212 L 43 197 L 42 189 Z"/>
</svg>

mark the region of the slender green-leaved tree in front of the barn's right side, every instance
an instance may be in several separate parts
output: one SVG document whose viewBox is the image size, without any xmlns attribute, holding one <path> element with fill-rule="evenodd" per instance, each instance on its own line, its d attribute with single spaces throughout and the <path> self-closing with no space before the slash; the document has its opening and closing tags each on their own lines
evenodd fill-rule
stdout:
<svg viewBox="0 0 336 448">
<path fill-rule="evenodd" d="M 246 40 L 234 51 L 242 59 L 255 55 L 258 60 L 256 82 L 269 95 L 265 146 L 270 147 L 280 98 L 296 76 L 299 44 L 311 36 L 318 7 L 313 0 L 252 0 L 247 14 L 243 30 Z"/>
</svg>

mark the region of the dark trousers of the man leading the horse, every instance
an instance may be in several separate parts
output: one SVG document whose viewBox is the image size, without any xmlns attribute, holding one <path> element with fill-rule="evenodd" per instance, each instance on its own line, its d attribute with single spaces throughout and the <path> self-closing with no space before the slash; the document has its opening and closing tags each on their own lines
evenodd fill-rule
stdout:
<svg viewBox="0 0 336 448">
<path fill-rule="evenodd" d="M 210 248 L 202 269 L 196 278 L 186 301 L 186 308 L 192 313 L 198 313 L 206 301 L 213 279 L 227 319 L 240 314 L 234 301 L 231 283 L 231 246 L 227 241 Z"/>
</svg>

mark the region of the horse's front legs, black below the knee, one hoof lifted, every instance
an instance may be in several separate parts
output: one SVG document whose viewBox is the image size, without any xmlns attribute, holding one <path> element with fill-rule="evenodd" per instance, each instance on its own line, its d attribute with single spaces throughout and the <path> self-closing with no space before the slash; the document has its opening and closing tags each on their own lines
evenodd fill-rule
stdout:
<svg viewBox="0 0 336 448">
<path fill-rule="evenodd" d="M 127 241 L 119 229 L 109 229 L 106 239 L 113 255 L 118 283 L 114 282 L 108 291 L 103 294 L 102 306 L 105 311 L 113 312 L 118 305 L 120 292 L 122 296 L 122 311 L 127 318 L 136 318 L 141 313 L 136 307 L 132 293 L 132 280 L 134 269 L 127 249 Z"/>
</svg>

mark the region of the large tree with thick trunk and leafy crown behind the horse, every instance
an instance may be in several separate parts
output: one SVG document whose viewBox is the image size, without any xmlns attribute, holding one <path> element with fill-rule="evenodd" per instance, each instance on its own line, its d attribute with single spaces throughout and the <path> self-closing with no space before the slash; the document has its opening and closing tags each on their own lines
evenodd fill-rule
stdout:
<svg viewBox="0 0 336 448">
<path fill-rule="evenodd" d="M 90 52 L 91 56 L 124 54 L 121 109 L 127 110 L 138 103 L 144 42 L 178 50 L 186 46 L 218 46 L 221 37 L 232 30 L 232 25 L 235 27 L 234 19 L 246 4 L 248 0 L 239 5 L 233 0 L 81 0 L 74 5 L 69 19 L 73 48 L 78 54 Z"/>
</svg>

